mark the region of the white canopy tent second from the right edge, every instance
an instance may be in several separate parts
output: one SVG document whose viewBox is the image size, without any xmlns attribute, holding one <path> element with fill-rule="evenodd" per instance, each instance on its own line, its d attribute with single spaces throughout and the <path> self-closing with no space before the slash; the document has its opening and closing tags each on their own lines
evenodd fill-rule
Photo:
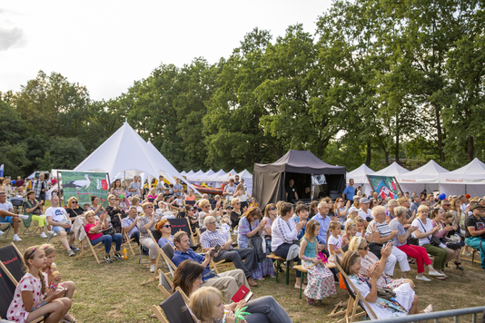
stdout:
<svg viewBox="0 0 485 323">
<path fill-rule="evenodd" d="M 447 169 L 442 168 L 437 162 L 430 161 L 426 165 L 420 168 L 401 174 L 397 180 L 401 185 L 401 190 L 410 194 L 413 192 L 418 195 L 421 191 L 439 190 L 440 186 L 440 174 L 449 172 Z"/>
</svg>

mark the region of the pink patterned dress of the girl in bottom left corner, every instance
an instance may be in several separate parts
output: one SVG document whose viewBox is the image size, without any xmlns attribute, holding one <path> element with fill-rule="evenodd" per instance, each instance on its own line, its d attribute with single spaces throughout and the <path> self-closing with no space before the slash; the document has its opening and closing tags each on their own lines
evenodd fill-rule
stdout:
<svg viewBox="0 0 485 323">
<path fill-rule="evenodd" d="M 47 275 L 45 275 L 45 273 L 39 273 L 39 278 L 36 279 L 32 274 L 27 272 L 24 277 L 20 279 L 15 289 L 14 299 L 12 299 L 12 303 L 10 303 L 6 312 L 7 319 L 24 323 L 29 316 L 30 312 L 27 312 L 24 308 L 24 300 L 22 299 L 23 291 L 32 291 L 34 303 L 41 302 L 45 298 L 45 294 L 41 293 L 42 284 L 40 279 L 44 279 L 45 290 L 47 290 Z"/>
</svg>

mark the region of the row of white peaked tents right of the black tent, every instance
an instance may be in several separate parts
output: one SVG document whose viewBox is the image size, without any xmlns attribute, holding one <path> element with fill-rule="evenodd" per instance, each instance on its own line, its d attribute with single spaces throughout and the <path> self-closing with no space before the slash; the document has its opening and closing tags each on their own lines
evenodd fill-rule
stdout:
<svg viewBox="0 0 485 323">
<path fill-rule="evenodd" d="M 440 191 L 447 196 L 470 194 L 471 196 L 485 196 L 485 163 L 475 158 L 469 164 L 455 171 L 448 171 L 441 167 L 437 162 L 430 161 L 426 165 L 414 171 L 408 171 L 397 162 L 391 163 L 381 171 L 372 171 L 367 165 L 347 173 L 347 182 L 354 181 L 354 188 L 361 186 L 363 193 L 372 191 L 371 185 L 367 180 L 367 175 L 380 175 L 395 177 L 401 186 L 401 190 L 406 192 L 421 191 Z"/>
</svg>

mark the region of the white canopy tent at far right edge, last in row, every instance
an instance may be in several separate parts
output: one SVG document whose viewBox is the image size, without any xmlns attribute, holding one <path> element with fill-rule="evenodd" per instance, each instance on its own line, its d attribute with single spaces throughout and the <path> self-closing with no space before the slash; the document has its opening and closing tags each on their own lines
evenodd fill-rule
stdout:
<svg viewBox="0 0 485 323">
<path fill-rule="evenodd" d="M 485 163 L 478 158 L 455 171 L 440 174 L 440 192 L 447 196 L 470 194 L 485 196 Z"/>
</svg>

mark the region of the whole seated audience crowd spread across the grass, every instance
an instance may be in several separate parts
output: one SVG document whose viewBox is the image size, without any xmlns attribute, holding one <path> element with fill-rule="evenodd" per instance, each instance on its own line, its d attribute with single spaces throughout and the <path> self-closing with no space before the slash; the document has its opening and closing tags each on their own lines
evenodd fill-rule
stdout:
<svg viewBox="0 0 485 323">
<path fill-rule="evenodd" d="M 335 267 L 340 266 L 352 291 L 360 291 L 367 301 L 362 306 L 371 308 L 377 318 L 420 312 L 415 283 L 409 277 L 410 264 L 416 264 L 417 280 L 431 281 L 424 275 L 426 268 L 428 276 L 444 280 L 449 279 L 447 267 L 451 260 L 456 269 L 463 270 L 460 255 L 480 250 L 481 268 L 485 271 L 485 252 L 480 249 L 485 242 L 485 199 L 462 195 L 446 198 L 440 194 L 435 200 L 425 192 L 412 198 L 401 194 L 399 199 L 381 199 L 373 192 L 369 199 L 360 191 L 355 199 L 346 190 L 335 202 L 323 198 L 312 201 L 309 207 L 302 201 L 295 205 L 278 201 L 266 205 L 262 211 L 239 179 L 231 179 L 224 188 L 225 201 L 218 195 L 210 201 L 206 194 L 196 201 L 192 190 L 185 194 L 178 179 L 174 185 L 167 185 L 161 176 L 156 187 L 143 191 L 135 176 L 127 190 L 120 180 L 114 181 L 107 201 L 93 195 L 91 204 L 81 207 L 72 197 L 63 208 L 59 206 L 59 195 L 55 194 L 50 199 L 52 206 L 44 211 L 45 195 L 41 193 L 48 184 L 38 181 L 41 182 L 34 182 L 33 191 L 26 193 L 22 215 L 14 212 L 12 204 L 6 201 L 5 191 L 0 190 L 0 222 L 12 224 L 14 240 L 20 240 L 19 219 L 24 220 L 25 227 L 34 220 L 41 237 L 59 235 L 64 249 L 73 256 L 77 251 L 74 239 L 81 228 L 93 245 L 104 244 L 107 263 L 113 262 L 112 248 L 114 258 L 122 260 L 122 243 L 134 240 L 141 252 L 148 254 L 150 272 L 156 270 L 160 250 L 172 246 L 172 262 L 176 267 L 173 291 L 180 287 L 190 298 L 187 305 L 197 322 L 213 322 L 223 317 L 231 322 L 233 312 L 246 306 L 246 311 L 252 313 L 245 317 L 248 322 L 291 322 L 272 297 L 232 301 L 242 286 L 257 287 L 257 280 L 272 279 L 275 270 L 282 270 L 273 263 L 273 258 L 267 257 L 271 254 L 284 259 L 283 262 L 290 261 L 290 267 L 293 263 L 301 265 L 300 269 L 308 273 L 307 281 L 303 282 L 302 272 L 295 269 L 294 288 L 304 289 L 309 305 L 336 294 L 339 276 Z M 172 219 L 186 219 L 191 233 L 179 230 L 172 235 Z M 202 253 L 195 252 L 197 248 Z M 29 264 L 34 279 L 42 278 L 39 275 L 42 271 L 35 267 L 34 261 L 42 256 L 41 252 L 46 255 L 47 248 L 42 249 L 35 247 L 28 255 L 25 253 L 25 263 Z M 216 274 L 211 268 L 213 262 L 231 262 L 235 269 Z M 401 277 L 396 277 L 396 265 Z M 45 288 L 44 279 L 40 281 L 41 288 Z M 52 303 L 45 310 L 48 308 L 53 318 L 74 321 L 67 314 L 74 283 L 64 285 L 64 293 L 45 293 L 42 289 L 45 299 Z M 378 289 L 391 289 L 392 300 L 379 297 Z M 30 305 L 35 299 L 23 301 Z M 46 313 L 45 310 L 37 313 Z M 432 310 L 430 305 L 421 312 Z M 18 315 L 30 317 L 28 313 Z"/>
</svg>

